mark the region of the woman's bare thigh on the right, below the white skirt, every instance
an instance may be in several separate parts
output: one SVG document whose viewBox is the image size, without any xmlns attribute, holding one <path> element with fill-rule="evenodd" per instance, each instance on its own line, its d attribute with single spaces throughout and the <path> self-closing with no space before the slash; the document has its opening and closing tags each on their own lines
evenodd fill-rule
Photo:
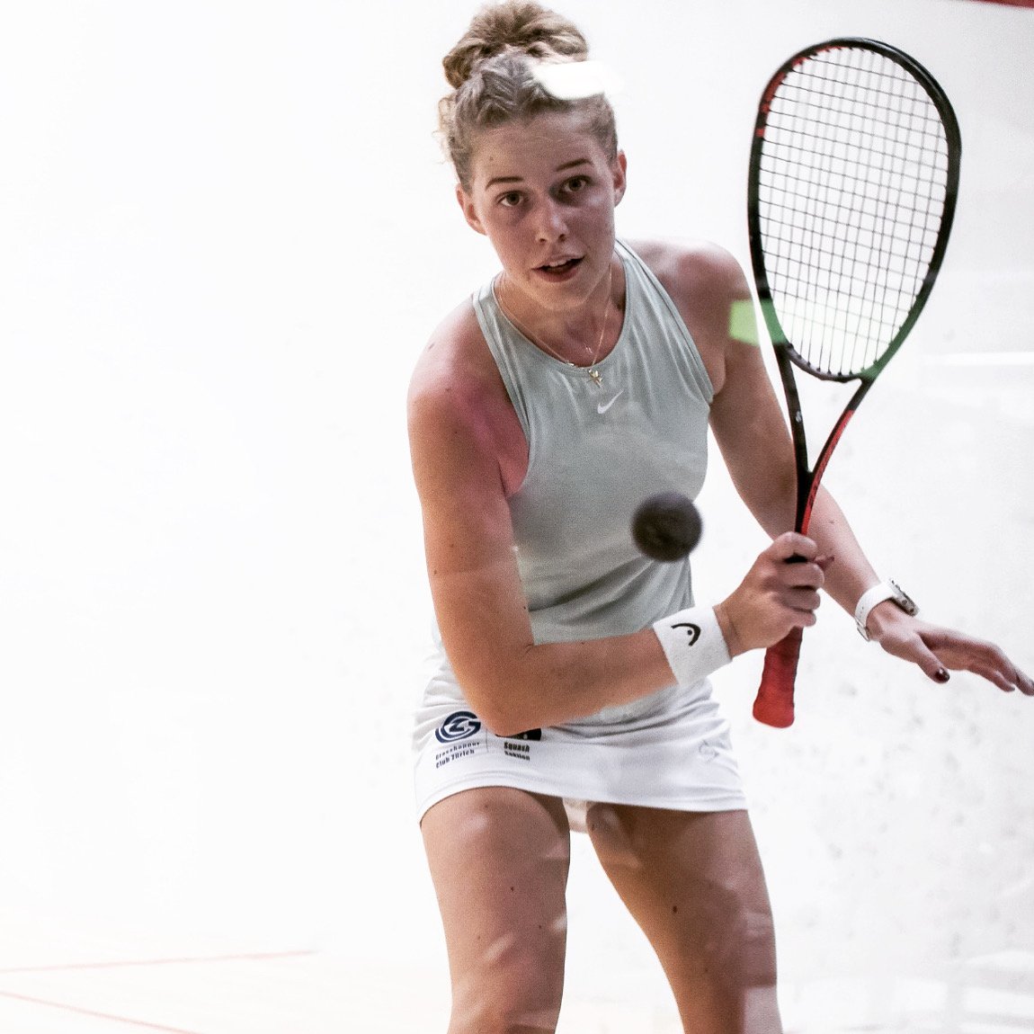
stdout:
<svg viewBox="0 0 1034 1034">
<path fill-rule="evenodd" d="M 781 1034 L 771 908 L 747 812 L 594 804 L 588 831 L 686 1031 Z"/>
</svg>

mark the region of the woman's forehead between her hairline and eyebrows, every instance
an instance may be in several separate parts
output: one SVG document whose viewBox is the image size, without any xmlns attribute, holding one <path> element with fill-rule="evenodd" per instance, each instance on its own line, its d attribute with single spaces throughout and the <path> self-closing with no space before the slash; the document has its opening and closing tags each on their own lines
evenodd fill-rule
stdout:
<svg viewBox="0 0 1034 1034">
<path fill-rule="evenodd" d="M 577 109 L 544 112 L 481 130 L 474 145 L 473 179 L 476 187 L 496 177 L 548 179 L 559 166 L 579 160 L 609 164 L 589 117 Z"/>
</svg>

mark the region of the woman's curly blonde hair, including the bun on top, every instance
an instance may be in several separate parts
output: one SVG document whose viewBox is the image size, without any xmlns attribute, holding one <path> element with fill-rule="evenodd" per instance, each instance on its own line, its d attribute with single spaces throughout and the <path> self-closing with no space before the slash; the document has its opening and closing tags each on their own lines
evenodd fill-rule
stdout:
<svg viewBox="0 0 1034 1034">
<path fill-rule="evenodd" d="M 540 62 L 584 61 L 578 27 L 534 0 L 483 7 L 442 65 L 452 92 L 438 101 L 443 146 L 464 189 L 478 132 L 544 112 L 583 111 L 611 160 L 617 154 L 614 110 L 603 94 L 577 100 L 549 93 L 535 75 Z"/>
</svg>

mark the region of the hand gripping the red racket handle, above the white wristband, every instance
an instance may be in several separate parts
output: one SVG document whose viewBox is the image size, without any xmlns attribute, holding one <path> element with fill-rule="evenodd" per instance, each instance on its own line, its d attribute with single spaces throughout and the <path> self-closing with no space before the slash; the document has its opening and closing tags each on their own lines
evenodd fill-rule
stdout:
<svg viewBox="0 0 1034 1034">
<path fill-rule="evenodd" d="M 792 629 L 814 625 L 831 560 L 796 531 L 774 539 L 735 591 L 714 608 L 730 657 L 766 648 Z"/>
</svg>

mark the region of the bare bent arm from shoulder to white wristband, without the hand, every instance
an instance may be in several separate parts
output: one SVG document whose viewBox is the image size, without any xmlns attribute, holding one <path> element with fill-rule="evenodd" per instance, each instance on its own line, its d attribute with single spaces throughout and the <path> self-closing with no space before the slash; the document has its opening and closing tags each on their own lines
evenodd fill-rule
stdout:
<svg viewBox="0 0 1034 1034">
<path fill-rule="evenodd" d="M 466 358 L 477 342 L 464 334 L 469 331 L 447 329 L 425 353 L 410 389 L 408 423 L 431 596 L 467 700 L 494 732 L 507 735 L 671 685 L 650 629 L 587 642 L 534 643 L 514 554 L 494 386 L 488 371 Z"/>
</svg>

